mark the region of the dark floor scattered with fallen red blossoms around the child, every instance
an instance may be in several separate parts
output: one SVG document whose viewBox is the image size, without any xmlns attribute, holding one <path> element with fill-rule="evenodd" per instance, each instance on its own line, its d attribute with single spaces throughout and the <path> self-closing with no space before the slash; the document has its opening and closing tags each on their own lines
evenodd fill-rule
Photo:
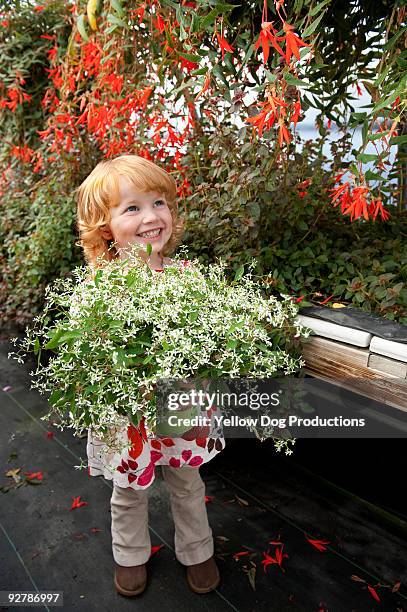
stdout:
<svg viewBox="0 0 407 612">
<path fill-rule="evenodd" d="M 0 389 L 11 389 L 0 391 L 0 486 L 10 483 L 5 472 L 13 468 L 42 471 L 44 478 L 36 486 L 0 492 L 0 590 L 61 590 L 64 610 L 84 612 L 407 610 L 403 521 L 390 528 L 357 499 L 335 494 L 297 469 L 295 460 L 255 440 L 227 441 L 225 451 L 201 468 L 222 574 L 219 589 L 206 595 L 188 589 L 175 559 L 169 499 L 158 470 L 150 491 L 150 531 L 152 544 L 163 548 L 149 561 L 145 593 L 133 600 L 119 596 L 112 582 L 111 483 L 75 469 L 86 457 L 84 439 L 69 430 L 54 430 L 47 438 L 50 427 L 39 418 L 44 399 L 29 389 L 30 367 L 8 360 L 9 350 L 4 339 Z M 345 441 L 337 442 L 346 449 Z M 88 506 L 70 511 L 78 495 Z M 329 541 L 327 550 L 319 552 L 305 536 Z M 284 543 L 288 558 L 266 573 L 263 552 L 276 548 L 270 541 Z M 233 556 L 246 551 L 250 555 Z M 247 573 L 254 567 L 255 590 Z M 392 593 L 398 581 L 401 587 Z M 367 584 L 382 585 L 376 587 L 380 603 Z"/>
</svg>

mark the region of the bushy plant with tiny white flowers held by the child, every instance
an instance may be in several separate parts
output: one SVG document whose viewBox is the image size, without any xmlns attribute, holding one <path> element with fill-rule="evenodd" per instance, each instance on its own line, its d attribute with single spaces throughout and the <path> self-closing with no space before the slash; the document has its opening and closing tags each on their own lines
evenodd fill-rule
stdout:
<svg viewBox="0 0 407 612">
<path fill-rule="evenodd" d="M 304 365 L 289 296 L 265 297 L 250 271 L 228 282 L 225 264 L 158 274 L 137 256 L 77 268 L 48 287 L 45 309 L 17 353 L 38 355 L 33 387 L 50 393 L 61 429 L 101 437 L 130 419 L 156 425 L 154 389 L 162 379 L 273 378 Z M 52 351 L 41 364 L 41 351 Z"/>
</svg>

